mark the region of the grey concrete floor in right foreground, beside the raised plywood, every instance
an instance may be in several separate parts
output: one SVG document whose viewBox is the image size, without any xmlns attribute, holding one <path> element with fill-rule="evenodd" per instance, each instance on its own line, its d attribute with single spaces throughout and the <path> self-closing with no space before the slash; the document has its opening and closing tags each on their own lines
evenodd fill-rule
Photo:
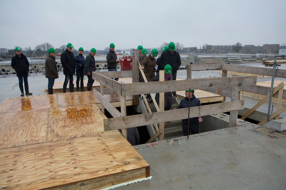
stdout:
<svg viewBox="0 0 286 190">
<path fill-rule="evenodd" d="M 252 124 L 229 129 L 135 146 L 153 178 L 117 189 L 285 189 L 286 135 Z"/>
</svg>

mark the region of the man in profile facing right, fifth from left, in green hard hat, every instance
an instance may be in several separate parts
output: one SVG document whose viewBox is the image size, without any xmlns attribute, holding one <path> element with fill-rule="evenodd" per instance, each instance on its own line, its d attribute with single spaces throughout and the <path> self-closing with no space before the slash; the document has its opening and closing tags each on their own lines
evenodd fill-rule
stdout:
<svg viewBox="0 0 286 190">
<path fill-rule="evenodd" d="M 92 72 L 95 71 L 95 59 L 94 55 L 96 54 L 96 49 L 91 48 L 90 53 L 86 56 L 86 61 L 84 63 L 84 75 L 88 76 L 88 91 L 91 91 L 94 79 L 92 78 Z"/>
</svg>

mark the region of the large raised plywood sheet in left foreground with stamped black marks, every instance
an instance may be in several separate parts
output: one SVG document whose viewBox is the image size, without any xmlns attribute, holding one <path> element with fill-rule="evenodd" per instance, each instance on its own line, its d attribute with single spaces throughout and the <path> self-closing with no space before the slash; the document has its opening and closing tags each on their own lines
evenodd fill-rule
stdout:
<svg viewBox="0 0 286 190">
<path fill-rule="evenodd" d="M 0 189 L 43 189 L 149 164 L 120 132 L 0 150 Z"/>
</svg>

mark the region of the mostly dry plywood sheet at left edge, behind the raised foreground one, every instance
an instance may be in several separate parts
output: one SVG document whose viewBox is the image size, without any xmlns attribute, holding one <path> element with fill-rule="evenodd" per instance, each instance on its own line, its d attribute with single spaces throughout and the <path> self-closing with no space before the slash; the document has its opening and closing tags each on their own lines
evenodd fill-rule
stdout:
<svg viewBox="0 0 286 190">
<path fill-rule="evenodd" d="M 49 109 L 0 114 L 0 148 L 46 142 Z"/>
</svg>

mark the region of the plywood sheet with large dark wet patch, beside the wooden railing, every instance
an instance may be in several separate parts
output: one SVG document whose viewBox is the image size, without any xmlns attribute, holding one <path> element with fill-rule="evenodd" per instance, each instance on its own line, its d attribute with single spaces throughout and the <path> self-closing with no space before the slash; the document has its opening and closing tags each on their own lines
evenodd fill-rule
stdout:
<svg viewBox="0 0 286 190">
<path fill-rule="evenodd" d="M 49 109 L 47 142 L 104 133 L 106 116 L 95 104 Z"/>
</svg>

